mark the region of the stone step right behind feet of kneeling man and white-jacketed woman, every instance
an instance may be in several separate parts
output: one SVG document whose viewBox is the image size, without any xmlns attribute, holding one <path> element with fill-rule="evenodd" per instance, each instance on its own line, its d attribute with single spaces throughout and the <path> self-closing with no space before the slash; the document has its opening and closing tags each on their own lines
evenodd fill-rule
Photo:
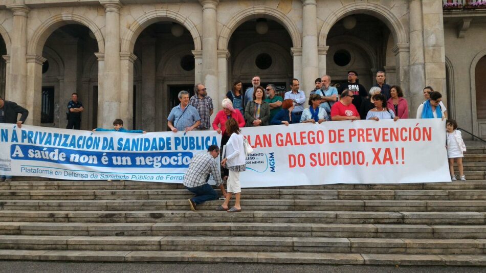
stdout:
<svg viewBox="0 0 486 273">
<path fill-rule="evenodd" d="M 221 200 L 207 201 L 197 210 L 213 211 Z M 234 201 L 230 202 L 232 205 Z M 486 200 L 306 200 L 242 199 L 244 210 L 266 211 L 486 211 Z M 0 200 L 0 210 L 34 211 L 166 211 L 187 210 L 187 200 Z"/>
</svg>

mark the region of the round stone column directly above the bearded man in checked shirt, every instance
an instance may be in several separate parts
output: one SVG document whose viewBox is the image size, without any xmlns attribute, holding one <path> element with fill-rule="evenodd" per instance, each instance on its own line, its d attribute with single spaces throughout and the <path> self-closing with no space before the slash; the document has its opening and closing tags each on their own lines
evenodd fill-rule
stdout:
<svg viewBox="0 0 486 273">
<path fill-rule="evenodd" d="M 203 67 L 201 82 L 208 88 L 208 95 L 218 98 L 218 58 L 216 6 L 219 0 L 199 0 L 203 6 Z M 197 82 L 196 82 L 197 83 Z"/>
</svg>

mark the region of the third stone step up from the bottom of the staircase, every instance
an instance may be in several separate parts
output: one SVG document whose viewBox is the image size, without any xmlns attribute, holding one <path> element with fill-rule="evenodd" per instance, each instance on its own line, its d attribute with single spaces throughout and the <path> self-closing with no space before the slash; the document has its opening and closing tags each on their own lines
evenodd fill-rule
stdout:
<svg viewBox="0 0 486 273">
<path fill-rule="evenodd" d="M 319 223 L 42 223 L 0 222 L 1 235 L 271 236 L 405 239 L 486 239 L 486 225 Z"/>
</svg>

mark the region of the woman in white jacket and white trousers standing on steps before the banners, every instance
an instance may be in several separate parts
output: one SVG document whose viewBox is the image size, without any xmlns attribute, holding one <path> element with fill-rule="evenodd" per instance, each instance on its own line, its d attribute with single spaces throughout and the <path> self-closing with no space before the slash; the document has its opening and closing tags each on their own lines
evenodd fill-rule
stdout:
<svg viewBox="0 0 486 273">
<path fill-rule="evenodd" d="M 229 169 L 228 181 L 226 183 L 227 192 L 225 202 L 216 208 L 217 211 L 240 212 L 241 185 L 239 182 L 239 172 L 246 170 L 246 155 L 243 136 L 240 134 L 238 122 L 235 119 L 228 119 L 225 123 L 226 133 L 230 139 L 226 143 L 226 156 L 221 161 L 221 165 Z M 228 203 L 232 194 L 236 195 L 233 208 L 228 209 Z"/>
</svg>

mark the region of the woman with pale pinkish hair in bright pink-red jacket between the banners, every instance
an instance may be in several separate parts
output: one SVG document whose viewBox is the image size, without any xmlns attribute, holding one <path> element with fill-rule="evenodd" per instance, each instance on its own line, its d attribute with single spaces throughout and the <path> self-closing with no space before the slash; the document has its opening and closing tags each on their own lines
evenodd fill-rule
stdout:
<svg viewBox="0 0 486 273">
<path fill-rule="evenodd" d="M 220 110 L 219 112 L 216 113 L 216 117 L 214 118 L 213 121 L 213 129 L 216 130 L 218 133 L 221 134 L 221 151 L 223 151 L 223 146 L 228 143 L 228 140 L 230 139 L 230 135 L 226 133 L 226 128 L 225 128 L 225 123 L 228 119 L 232 118 L 235 119 L 238 122 L 238 126 L 245 127 L 245 119 L 241 115 L 241 112 L 239 110 L 235 110 L 233 108 L 233 103 L 231 102 L 230 99 L 224 99 L 223 102 L 221 103 L 221 106 L 223 106 L 223 110 Z M 219 125 L 219 127 L 218 127 Z M 228 169 L 223 168 L 223 180 L 228 179 Z"/>
</svg>

